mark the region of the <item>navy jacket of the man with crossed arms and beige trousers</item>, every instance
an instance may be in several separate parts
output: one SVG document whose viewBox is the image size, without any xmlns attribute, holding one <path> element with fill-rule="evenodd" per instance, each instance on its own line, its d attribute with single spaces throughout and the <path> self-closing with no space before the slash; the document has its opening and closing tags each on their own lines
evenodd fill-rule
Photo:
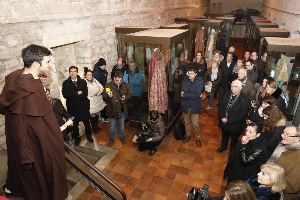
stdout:
<svg viewBox="0 0 300 200">
<path fill-rule="evenodd" d="M 191 109 L 192 114 L 197 114 L 202 111 L 202 98 L 204 81 L 201 76 L 196 75 L 193 82 L 188 76 L 185 76 L 182 81 L 182 89 L 184 92 L 181 99 L 181 110 L 187 113 Z"/>
</svg>

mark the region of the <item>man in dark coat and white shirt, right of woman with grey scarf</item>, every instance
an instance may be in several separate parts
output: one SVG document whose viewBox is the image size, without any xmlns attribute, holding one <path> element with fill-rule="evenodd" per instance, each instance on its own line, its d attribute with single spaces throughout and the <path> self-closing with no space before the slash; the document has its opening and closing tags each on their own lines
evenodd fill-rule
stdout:
<svg viewBox="0 0 300 200">
<path fill-rule="evenodd" d="M 219 103 L 220 101 L 223 100 L 224 94 L 230 89 L 228 88 L 228 82 L 229 82 L 228 78 L 229 78 L 229 74 L 232 72 L 233 67 L 235 65 L 235 61 L 233 61 L 232 58 L 233 58 L 233 53 L 228 52 L 226 56 L 226 60 L 222 61 L 219 66 L 219 68 L 222 71 L 222 79 L 220 82 L 220 91 L 219 91 Z"/>
</svg>

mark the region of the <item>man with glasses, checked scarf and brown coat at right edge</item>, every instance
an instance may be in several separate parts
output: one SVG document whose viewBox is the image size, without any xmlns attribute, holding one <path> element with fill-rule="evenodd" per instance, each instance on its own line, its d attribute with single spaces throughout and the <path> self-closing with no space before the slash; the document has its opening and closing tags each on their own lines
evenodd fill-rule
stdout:
<svg viewBox="0 0 300 200">
<path fill-rule="evenodd" d="M 286 187 L 283 200 L 293 199 L 300 194 L 300 128 L 286 127 L 281 133 L 278 144 L 267 163 L 277 163 L 286 174 Z"/>
</svg>

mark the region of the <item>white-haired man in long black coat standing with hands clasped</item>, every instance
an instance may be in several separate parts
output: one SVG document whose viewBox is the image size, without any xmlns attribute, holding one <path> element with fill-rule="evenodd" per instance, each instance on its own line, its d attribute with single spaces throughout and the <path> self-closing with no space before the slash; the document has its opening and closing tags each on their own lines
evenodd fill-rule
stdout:
<svg viewBox="0 0 300 200">
<path fill-rule="evenodd" d="M 244 131 L 245 119 L 249 111 L 250 99 L 242 91 L 239 80 L 232 81 L 231 91 L 227 92 L 219 103 L 219 125 L 222 128 L 221 147 L 217 152 L 227 150 L 229 136 L 231 136 L 230 151 L 238 142 L 238 137 Z"/>
</svg>

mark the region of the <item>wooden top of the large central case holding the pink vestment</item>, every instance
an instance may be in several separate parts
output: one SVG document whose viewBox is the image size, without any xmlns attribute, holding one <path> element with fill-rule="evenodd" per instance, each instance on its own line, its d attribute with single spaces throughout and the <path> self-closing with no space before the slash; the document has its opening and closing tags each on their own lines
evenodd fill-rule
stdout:
<svg viewBox="0 0 300 200">
<path fill-rule="evenodd" d="M 189 34 L 190 30 L 156 28 L 127 34 L 125 42 L 172 45 Z"/>
</svg>

